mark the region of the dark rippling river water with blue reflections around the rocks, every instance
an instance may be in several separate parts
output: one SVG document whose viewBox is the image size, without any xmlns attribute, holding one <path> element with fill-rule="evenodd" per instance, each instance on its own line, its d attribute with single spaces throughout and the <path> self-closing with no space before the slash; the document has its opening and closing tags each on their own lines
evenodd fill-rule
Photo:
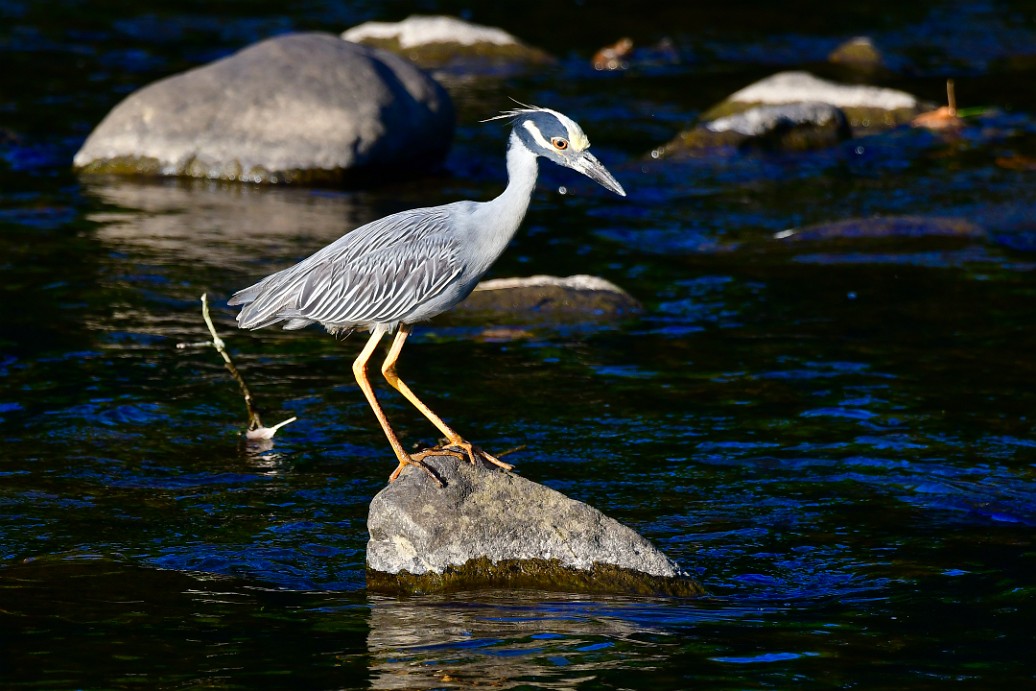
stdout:
<svg viewBox="0 0 1036 691">
<path fill-rule="evenodd" d="M 0 6 L 0 686 L 1025 688 L 1036 684 L 1036 6 L 1031 2 L 35 3 Z M 444 10 L 563 60 L 464 82 L 442 174 L 368 191 L 81 180 L 125 93 L 290 29 Z M 795 156 L 644 153 L 727 93 L 867 33 L 885 84 L 984 107 Z M 594 74 L 623 34 L 683 61 Z M 701 602 L 365 591 L 395 461 L 359 340 L 233 332 L 223 301 L 348 228 L 485 199 L 508 96 L 571 114 L 631 192 L 544 170 L 495 276 L 589 272 L 643 300 L 609 325 L 449 318 L 401 364 L 520 471 L 640 530 Z M 557 194 L 565 185 L 567 194 Z M 872 215 L 972 234 L 778 241 Z M 265 420 L 203 340 L 214 317 Z M 433 440 L 384 395 L 408 442 Z"/>
</svg>

